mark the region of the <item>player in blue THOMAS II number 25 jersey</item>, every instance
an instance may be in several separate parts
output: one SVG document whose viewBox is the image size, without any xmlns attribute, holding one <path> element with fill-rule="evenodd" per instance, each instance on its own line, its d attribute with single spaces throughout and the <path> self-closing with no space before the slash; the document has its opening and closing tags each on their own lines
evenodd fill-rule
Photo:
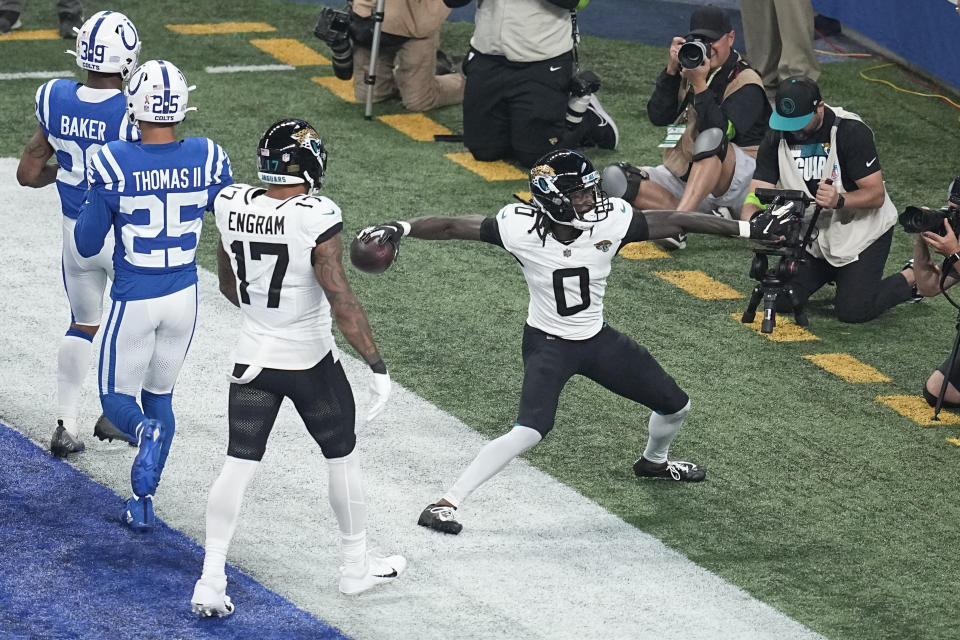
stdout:
<svg viewBox="0 0 960 640">
<path fill-rule="evenodd" d="M 82 256 L 99 253 L 112 228 L 113 304 L 100 350 L 100 402 L 139 452 L 133 497 L 121 519 L 153 525 L 153 494 L 170 452 L 173 387 L 197 319 L 197 243 L 204 211 L 233 184 L 230 160 L 208 138 L 177 140 L 193 87 L 180 70 L 150 60 L 130 76 L 127 115 L 141 142 L 111 142 L 88 166 L 90 188 L 74 228 Z M 137 404 L 140 394 L 143 408 Z"/>
</svg>

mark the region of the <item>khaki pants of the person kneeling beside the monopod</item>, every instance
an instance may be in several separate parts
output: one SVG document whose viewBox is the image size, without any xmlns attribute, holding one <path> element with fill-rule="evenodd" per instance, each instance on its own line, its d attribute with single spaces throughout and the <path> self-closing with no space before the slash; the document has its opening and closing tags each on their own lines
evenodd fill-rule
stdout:
<svg viewBox="0 0 960 640">
<path fill-rule="evenodd" d="M 440 33 L 429 38 L 411 38 L 399 48 L 381 49 L 377 56 L 373 101 L 382 102 L 396 95 L 410 111 L 428 111 L 463 102 L 466 79 L 462 74 L 436 75 Z M 353 91 L 357 102 L 367 99 L 364 78 L 370 70 L 370 49 L 356 47 L 353 52 Z"/>
</svg>

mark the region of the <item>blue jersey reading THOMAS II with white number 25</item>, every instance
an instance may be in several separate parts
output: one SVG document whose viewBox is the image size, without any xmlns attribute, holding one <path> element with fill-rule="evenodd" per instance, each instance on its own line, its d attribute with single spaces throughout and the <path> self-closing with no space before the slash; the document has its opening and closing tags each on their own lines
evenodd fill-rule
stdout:
<svg viewBox="0 0 960 640">
<path fill-rule="evenodd" d="M 208 138 L 111 142 L 90 160 L 87 179 L 74 238 L 81 255 L 94 255 L 113 227 L 111 298 L 159 298 L 197 282 L 203 213 L 233 184 L 220 145 Z"/>
</svg>

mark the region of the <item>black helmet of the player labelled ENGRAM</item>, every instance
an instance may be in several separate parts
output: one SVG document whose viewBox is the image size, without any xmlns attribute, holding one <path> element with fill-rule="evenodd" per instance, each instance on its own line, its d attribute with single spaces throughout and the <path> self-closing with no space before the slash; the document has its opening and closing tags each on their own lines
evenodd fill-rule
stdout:
<svg viewBox="0 0 960 640">
<path fill-rule="evenodd" d="M 305 120 L 278 120 L 267 127 L 257 147 L 257 176 L 270 184 L 307 185 L 315 191 L 327 172 L 327 150 Z"/>
</svg>

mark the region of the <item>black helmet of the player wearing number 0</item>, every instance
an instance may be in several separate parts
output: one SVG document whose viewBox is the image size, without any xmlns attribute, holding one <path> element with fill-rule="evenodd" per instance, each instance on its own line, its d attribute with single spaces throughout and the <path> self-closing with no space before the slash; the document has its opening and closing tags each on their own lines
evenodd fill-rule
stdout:
<svg viewBox="0 0 960 640">
<path fill-rule="evenodd" d="M 578 211 L 570 196 L 590 191 L 593 206 Z M 581 231 L 605 220 L 613 209 L 601 188 L 600 172 L 586 156 L 570 149 L 556 149 L 540 158 L 530 170 L 530 193 L 537 209 L 553 222 Z"/>
</svg>

